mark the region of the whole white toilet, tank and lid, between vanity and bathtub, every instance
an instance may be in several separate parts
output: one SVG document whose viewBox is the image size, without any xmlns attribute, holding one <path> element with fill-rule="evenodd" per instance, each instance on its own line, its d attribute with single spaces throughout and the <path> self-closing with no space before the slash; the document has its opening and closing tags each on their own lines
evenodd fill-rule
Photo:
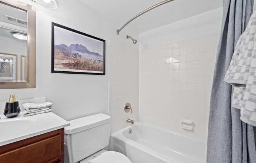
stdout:
<svg viewBox="0 0 256 163">
<path fill-rule="evenodd" d="M 119 152 L 103 150 L 110 139 L 110 116 L 95 114 L 71 120 L 65 127 L 69 163 L 132 163 Z M 67 155 L 66 155 L 67 156 Z"/>
</svg>

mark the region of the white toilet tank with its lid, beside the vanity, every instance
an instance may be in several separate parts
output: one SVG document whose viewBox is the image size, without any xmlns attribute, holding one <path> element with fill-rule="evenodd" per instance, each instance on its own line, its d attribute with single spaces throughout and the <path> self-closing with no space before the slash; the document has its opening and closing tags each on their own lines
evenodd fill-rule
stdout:
<svg viewBox="0 0 256 163">
<path fill-rule="evenodd" d="M 76 163 L 108 146 L 110 116 L 95 114 L 69 121 L 65 127 L 65 144 L 69 163 Z"/>
</svg>

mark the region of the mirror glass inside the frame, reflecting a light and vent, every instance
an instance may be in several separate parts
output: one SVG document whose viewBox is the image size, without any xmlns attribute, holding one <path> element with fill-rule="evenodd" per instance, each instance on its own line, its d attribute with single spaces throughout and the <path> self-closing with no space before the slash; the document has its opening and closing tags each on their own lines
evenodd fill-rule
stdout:
<svg viewBox="0 0 256 163">
<path fill-rule="evenodd" d="M 26 82 L 27 12 L 0 3 L 0 82 Z"/>
</svg>

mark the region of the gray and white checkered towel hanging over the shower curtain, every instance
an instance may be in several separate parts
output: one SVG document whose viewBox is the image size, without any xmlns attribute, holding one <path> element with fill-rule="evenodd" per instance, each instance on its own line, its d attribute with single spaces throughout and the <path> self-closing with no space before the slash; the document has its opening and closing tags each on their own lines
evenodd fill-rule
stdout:
<svg viewBox="0 0 256 163">
<path fill-rule="evenodd" d="M 256 126 L 256 12 L 238 39 L 224 81 L 234 86 L 231 106 L 241 110 L 240 119 Z"/>
</svg>

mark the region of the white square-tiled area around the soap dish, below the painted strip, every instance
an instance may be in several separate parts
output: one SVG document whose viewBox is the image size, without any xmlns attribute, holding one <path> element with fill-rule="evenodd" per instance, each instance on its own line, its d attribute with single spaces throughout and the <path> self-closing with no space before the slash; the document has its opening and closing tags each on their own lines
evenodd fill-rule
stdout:
<svg viewBox="0 0 256 163">
<path fill-rule="evenodd" d="M 144 122 L 205 138 L 197 131 L 207 127 L 218 38 L 212 34 L 141 49 L 140 87 L 148 94 L 140 97 Z M 195 132 L 181 129 L 181 119 L 193 120 Z"/>
</svg>

